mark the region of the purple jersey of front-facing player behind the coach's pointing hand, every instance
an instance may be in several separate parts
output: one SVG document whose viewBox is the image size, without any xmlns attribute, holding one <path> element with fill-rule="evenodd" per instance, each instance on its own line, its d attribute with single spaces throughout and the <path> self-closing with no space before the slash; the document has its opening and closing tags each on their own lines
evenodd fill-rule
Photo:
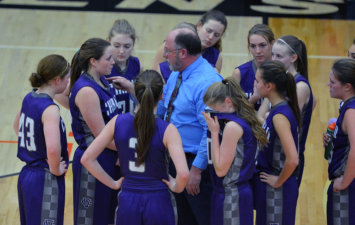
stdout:
<svg viewBox="0 0 355 225">
<path fill-rule="evenodd" d="M 121 74 L 119 72 L 120 68 L 117 64 L 114 65 L 112 68 L 111 74 L 107 76 L 109 77 L 124 77 L 127 80 L 131 81 L 134 83 L 136 76 L 139 74 L 141 70 L 141 65 L 139 62 L 139 59 L 134 56 L 130 56 L 128 59 L 128 64 L 127 68 L 124 72 L 124 74 Z M 130 112 L 133 110 L 133 101 L 130 100 L 130 93 L 127 91 L 123 90 L 117 90 L 113 87 L 112 81 L 109 81 L 110 87 L 115 90 L 115 95 L 116 95 L 116 100 L 117 100 L 117 105 L 118 105 L 118 113 L 125 113 L 125 112 Z"/>
</svg>

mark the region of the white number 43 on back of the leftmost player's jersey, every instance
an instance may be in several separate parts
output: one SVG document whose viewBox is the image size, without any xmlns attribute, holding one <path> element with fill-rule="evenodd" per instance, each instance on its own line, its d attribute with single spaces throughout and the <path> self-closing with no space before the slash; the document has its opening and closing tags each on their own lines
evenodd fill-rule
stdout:
<svg viewBox="0 0 355 225">
<path fill-rule="evenodd" d="M 26 136 L 24 133 L 24 127 L 26 126 Z M 35 151 L 36 145 L 34 144 L 34 120 L 26 116 L 22 112 L 20 116 L 20 126 L 18 128 L 18 137 L 20 138 L 20 147 L 26 148 L 29 151 Z M 26 140 L 26 141 L 25 141 Z"/>
</svg>

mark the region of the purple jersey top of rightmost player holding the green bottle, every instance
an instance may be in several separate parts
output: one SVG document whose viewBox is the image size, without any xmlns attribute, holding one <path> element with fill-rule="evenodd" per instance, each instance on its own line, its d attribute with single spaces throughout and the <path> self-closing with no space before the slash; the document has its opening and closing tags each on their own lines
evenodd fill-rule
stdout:
<svg viewBox="0 0 355 225">
<path fill-rule="evenodd" d="M 345 111 L 349 108 L 355 109 L 355 97 L 351 97 L 346 100 L 342 108 L 339 110 L 339 117 L 333 133 L 332 150 L 329 153 L 329 180 L 333 180 L 341 175 L 344 175 L 346 164 L 348 162 L 350 142 L 349 136 L 345 135 L 342 131 L 342 122 Z"/>
</svg>

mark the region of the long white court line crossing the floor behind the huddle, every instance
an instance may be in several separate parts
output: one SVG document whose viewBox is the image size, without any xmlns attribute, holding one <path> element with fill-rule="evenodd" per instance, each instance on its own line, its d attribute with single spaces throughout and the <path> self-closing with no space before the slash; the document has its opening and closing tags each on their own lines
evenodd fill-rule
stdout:
<svg viewBox="0 0 355 225">
<path fill-rule="evenodd" d="M 65 47 L 46 47 L 46 46 L 24 46 L 24 45 L 0 45 L 0 49 L 26 49 L 26 50 L 56 50 L 56 51 L 77 51 L 78 48 L 65 48 Z M 135 49 L 136 53 L 144 53 L 144 54 L 155 54 L 156 50 L 140 50 Z M 237 57 L 247 57 L 249 54 L 247 53 L 225 53 L 222 52 L 223 56 L 237 56 Z M 334 55 L 308 55 L 308 59 L 339 59 L 343 56 L 334 56 Z"/>
</svg>

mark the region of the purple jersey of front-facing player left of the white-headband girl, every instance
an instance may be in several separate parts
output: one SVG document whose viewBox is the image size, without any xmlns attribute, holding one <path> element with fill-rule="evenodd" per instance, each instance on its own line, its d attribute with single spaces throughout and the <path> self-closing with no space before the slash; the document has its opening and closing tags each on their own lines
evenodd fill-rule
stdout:
<svg viewBox="0 0 355 225">
<path fill-rule="evenodd" d="M 240 71 L 240 87 L 244 90 L 246 97 L 249 99 L 254 93 L 254 80 L 256 74 L 256 65 L 255 60 L 246 62 L 243 65 L 236 67 Z M 255 110 L 258 111 L 261 103 L 263 102 L 263 98 L 259 99 L 255 103 Z"/>
</svg>

